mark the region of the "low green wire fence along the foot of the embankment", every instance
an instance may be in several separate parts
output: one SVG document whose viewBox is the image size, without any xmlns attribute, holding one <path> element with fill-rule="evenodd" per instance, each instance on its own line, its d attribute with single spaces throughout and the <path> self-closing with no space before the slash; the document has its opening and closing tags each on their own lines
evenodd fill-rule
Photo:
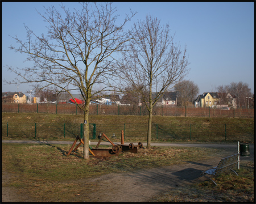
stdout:
<svg viewBox="0 0 256 204">
<path fill-rule="evenodd" d="M 83 136 L 83 124 L 49 123 L 2 123 L 2 137 L 27 139 L 60 139 Z M 109 138 L 115 134 L 117 141 L 124 131 L 126 141 L 146 141 L 147 124 L 89 124 L 89 138 L 97 139 L 99 133 Z M 254 143 L 254 124 L 250 125 L 210 125 L 210 124 L 152 124 L 152 141 L 199 141 L 221 142 L 241 141 Z"/>
</svg>

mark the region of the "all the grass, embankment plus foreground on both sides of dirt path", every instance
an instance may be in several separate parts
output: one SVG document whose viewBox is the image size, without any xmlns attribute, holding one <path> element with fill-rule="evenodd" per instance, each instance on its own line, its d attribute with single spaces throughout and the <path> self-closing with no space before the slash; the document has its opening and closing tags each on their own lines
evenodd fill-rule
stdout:
<svg viewBox="0 0 256 204">
<path fill-rule="evenodd" d="M 82 116 L 75 114 L 2 113 L 2 139 L 73 141 L 80 134 L 82 121 Z M 158 124 L 152 128 L 154 142 L 254 143 L 254 118 L 153 116 L 152 122 Z M 13 127 L 9 129 L 8 137 L 5 129 L 7 123 L 9 128 Z M 36 138 L 35 123 L 38 128 Z M 120 141 L 119 134 L 124 128 L 125 142 L 146 141 L 147 116 L 90 115 L 89 123 L 96 124 L 97 134 L 104 132 L 111 138 L 114 132 L 117 139 L 112 139 L 113 142 Z M 65 126 L 65 137 L 60 131 L 63 124 L 69 124 Z M 98 141 L 97 137 L 90 140 Z M 2 172 L 13 175 L 13 179 L 2 183 L 2 186 L 14 188 L 24 199 L 31 198 L 35 202 L 86 202 L 86 198 L 77 197 L 77 181 L 81 177 L 86 179 L 109 172 L 179 165 L 183 160 L 196 162 L 225 153 L 225 150 L 216 148 L 152 147 L 151 151 L 142 148 L 138 154 L 126 152 L 118 157 L 83 160 L 82 147 L 75 154 L 65 156 L 70 147 L 2 143 Z M 217 187 L 205 181 L 185 188 L 175 188 L 152 198 L 151 202 L 254 202 L 254 162 L 243 163 L 238 175 L 236 177 L 232 173 L 224 173 L 216 178 Z M 84 190 L 93 188 L 92 184 Z"/>
</svg>

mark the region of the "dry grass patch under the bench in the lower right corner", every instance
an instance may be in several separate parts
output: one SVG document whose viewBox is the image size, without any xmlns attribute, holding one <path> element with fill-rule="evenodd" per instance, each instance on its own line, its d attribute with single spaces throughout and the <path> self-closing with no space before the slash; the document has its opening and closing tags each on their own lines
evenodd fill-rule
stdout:
<svg viewBox="0 0 256 204">
<path fill-rule="evenodd" d="M 240 169 L 234 173 L 224 172 L 213 178 L 212 181 L 200 184 L 177 187 L 169 192 L 164 192 L 151 202 L 255 202 L 254 189 L 254 162 L 246 162 L 240 165 Z"/>
</svg>

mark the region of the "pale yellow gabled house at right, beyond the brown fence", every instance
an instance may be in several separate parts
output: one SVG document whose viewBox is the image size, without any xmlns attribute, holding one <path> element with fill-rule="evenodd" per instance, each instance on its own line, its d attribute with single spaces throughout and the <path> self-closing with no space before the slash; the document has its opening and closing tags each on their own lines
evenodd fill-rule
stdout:
<svg viewBox="0 0 256 204">
<path fill-rule="evenodd" d="M 219 97 L 217 92 L 204 92 L 197 96 L 197 99 L 194 101 L 195 107 L 216 107 Z"/>
</svg>

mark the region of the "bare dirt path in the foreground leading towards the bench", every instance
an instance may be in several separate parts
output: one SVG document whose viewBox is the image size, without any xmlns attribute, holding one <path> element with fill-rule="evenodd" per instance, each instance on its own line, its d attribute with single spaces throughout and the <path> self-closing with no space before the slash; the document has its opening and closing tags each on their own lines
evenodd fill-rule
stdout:
<svg viewBox="0 0 256 204">
<path fill-rule="evenodd" d="M 212 167 L 218 160 L 219 158 L 213 158 L 200 163 L 189 162 L 137 172 L 110 173 L 88 180 L 89 183 L 98 184 L 97 190 L 80 192 L 80 196 L 85 196 L 85 193 L 89 202 L 148 202 L 152 197 L 176 186 L 204 181 L 200 172 Z"/>
</svg>

